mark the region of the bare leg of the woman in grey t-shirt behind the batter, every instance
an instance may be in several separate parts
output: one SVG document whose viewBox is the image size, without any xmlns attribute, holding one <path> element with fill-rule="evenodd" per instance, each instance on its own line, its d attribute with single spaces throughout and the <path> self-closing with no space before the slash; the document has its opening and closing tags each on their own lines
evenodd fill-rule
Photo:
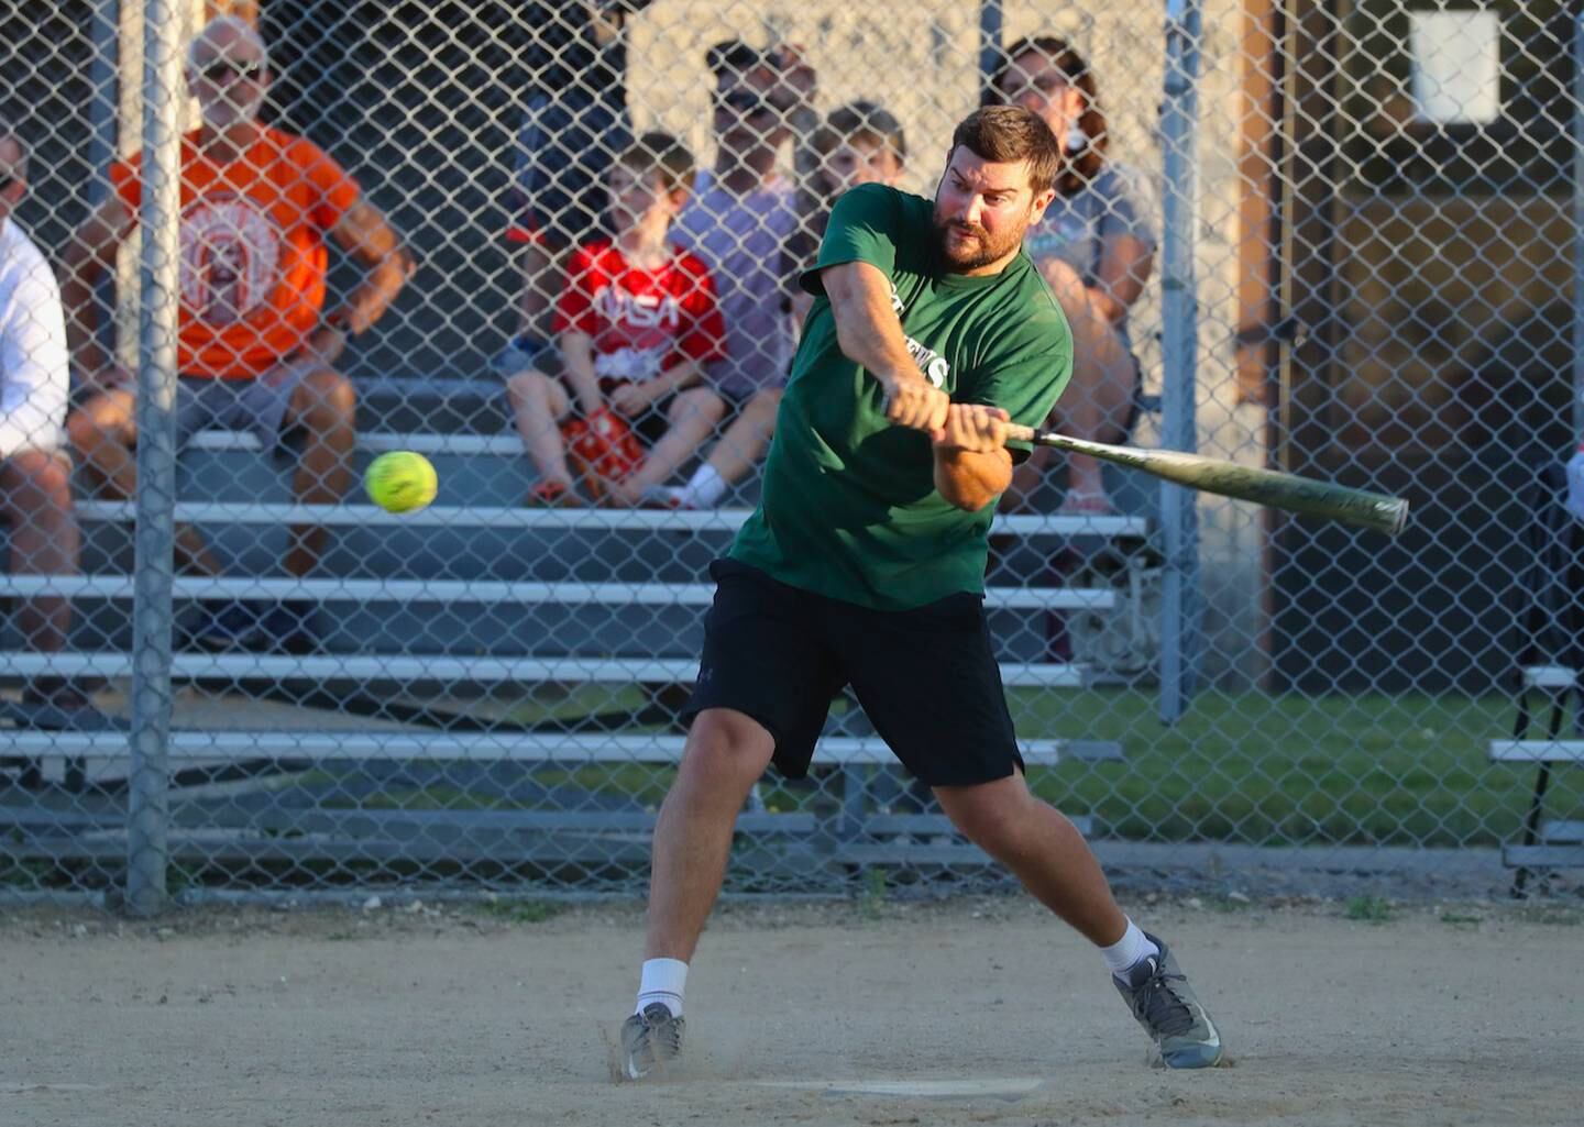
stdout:
<svg viewBox="0 0 1584 1127">
<path fill-rule="evenodd" d="M 1072 326 L 1072 383 L 1061 393 L 1052 419 L 1074 438 L 1115 442 L 1133 404 L 1133 358 L 1072 269 L 1053 263 L 1045 280 Z M 1083 454 L 1068 459 L 1068 494 L 1104 499 L 1098 461 Z"/>
</svg>

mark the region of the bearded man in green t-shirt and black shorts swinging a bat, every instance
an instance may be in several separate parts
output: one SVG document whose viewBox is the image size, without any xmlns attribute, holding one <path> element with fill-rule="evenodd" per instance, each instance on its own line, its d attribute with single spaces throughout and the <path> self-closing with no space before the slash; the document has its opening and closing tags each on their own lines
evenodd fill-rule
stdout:
<svg viewBox="0 0 1584 1127">
<path fill-rule="evenodd" d="M 952 135 L 935 203 L 854 188 L 803 275 L 817 301 L 765 464 L 763 500 L 711 565 L 692 727 L 654 829 L 648 939 L 623 1068 L 683 1043 L 683 989 L 743 799 L 775 761 L 808 772 L 851 684 L 961 833 L 1099 948 L 1174 1068 L 1221 1040 L 1159 939 L 1112 899 L 1083 837 L 1030 795 L 984 614 L 985 535 L 1072 372 L 1072 336 L 1022 252 L 1060 149 L 1017 106 Z"/>
</svg>

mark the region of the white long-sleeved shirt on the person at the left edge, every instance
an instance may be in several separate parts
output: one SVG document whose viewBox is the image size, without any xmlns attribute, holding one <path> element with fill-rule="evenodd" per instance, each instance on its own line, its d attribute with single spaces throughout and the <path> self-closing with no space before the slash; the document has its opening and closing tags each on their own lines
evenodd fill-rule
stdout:
<svg viewBox="0 0 1584 1127">
<path fill-rule="evenodd" d="M 67 318 L 49 261 L 22 228 L 0 223 L 0 457 L 65 440 Z"/>
</svg>

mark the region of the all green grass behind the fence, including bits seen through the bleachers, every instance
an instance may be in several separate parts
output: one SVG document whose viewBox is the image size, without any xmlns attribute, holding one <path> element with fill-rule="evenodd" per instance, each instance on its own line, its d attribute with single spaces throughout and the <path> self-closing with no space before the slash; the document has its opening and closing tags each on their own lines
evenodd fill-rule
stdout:
<svg viewBox="0 0 1584 1127">
<path fill-rule="evenodd" d="M 637 689 L 570 692 L 524 709 L 604 709 Z M 629 700 L 632 696 L 632 700 Z M 1155 690 L 1009 692 L 1028 739 L 1117 741 L 1123 760 L 1033 768 L 1030 784 L 1071 815 L 1088 815 L 1101 837 L 1255 845 L 1498 845 L 1521 833 L 1533 769 L 1489 763 L 1486 742 L 1505 736 L 1503 695 L 1272 696 L 1202 692 L 1177 723 L 1156 715 Z M 564 709 L 567 712 L 564 712 Z M 524 714 L 526 719 L 526 714 Z M 624 734 L 657 733 L 627 728 Z M 488 738 L 482 738 L 486 741 Z M 482 744 L 483 746 L 483 744 Z M 453 785 L 447 763 L 409 763 L 426 785 L 336 793 L 317 780 L 323 807 L 345 809 L 657 809 L 675 777 L 670 765 L 520 765 L 532 785 L 501 790 Z M 873 774 L 873 768 L 860 768 Z M 841 801 L 846 774 L 816 760 L 808 780 L 775 772 L 760 784 L 770 810 L 809 812 Z M 1559 776 L 1548 796 L 1555 817 L 1584 809 L 1584 785 Z"/>
</svg>

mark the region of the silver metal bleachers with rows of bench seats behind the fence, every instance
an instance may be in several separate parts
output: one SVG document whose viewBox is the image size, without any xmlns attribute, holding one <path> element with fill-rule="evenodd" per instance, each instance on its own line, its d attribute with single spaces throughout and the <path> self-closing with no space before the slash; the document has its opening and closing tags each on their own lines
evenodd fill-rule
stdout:
<svg viewBox="0 0 1584 1127">
<path fill-rule="evenodd" d="M 391 381 L 363 388 L 360 419 L 366 429 L 358 435 L 358 470 L 386 450 L 421 451 L 439 470 L 440 494 L 432 507 L 390 514 L 363 503 L 356 488 L 344 505 L 295 507 L 288 488 L 293 462 L 266 456 L 247 435 L 201 434 L 184 453 L 177 519 L 204 532 L 227 575 L 177 578 L 177 611 L 239 597 L 312 600 L 320 608 L 325 649 L 306 655 L 177 651 L 173 681 L 217 696 L 227 708 L 219 709 L 220 722 L 215 709 L 195 720 L 177 711 L 173 771 L 244 760 L 298 768 L 421 761 L 436 771 L 486 761 L 559 769 L 675 763 L 681 733 L 653 722 L 635 720 L 615 731 L 578 731 L 564 723 L 545 730 L 394 728 L 360 727 L 345 714 L 299 708 L 290 727 L 279 727 L 246 708 L 255 698 L 279 700 L 284 690 L 310 687 L 318 703 L 339 692 L 391 700 L 444 696 L 466 714 L 470 696 L 499 701 L 545 684 L 637 684 L 657 695 L 686 685 L 697 671 L 702 619 L 713 595 L 706 565 L 725 549 L 746 507 L 703 513 L 524 508 L 531 469 L 493 385 Z M 84 529 L 81 576 L 0 576 L 0 597 L 70 595 L 76 606 L 73 649 L 40 655 L 8 636 L 0 652 L 6 684 L 46 671 L 112 684 L 131 676 L 133 505 L 81 500 L 78 514 Z M 298 521 L 333 527 L 320 570 L 306 581 L 279 571 L 285 529 Z M 1020 540 L 1079 533 L 1142 540 L 1145 526 L 1142 518 L 1128 516 L 1001 516 L 995 532 Z M 1049 609 L 1104 613 L 1115 598 L 1110 589 L 992 587 L 987 606 L 992 632 L 1003 639 L 1006 684 L 1083 687 L 1083 666 L 1045 660 L 1042 639 L 1015 627 Z M 315 715 L 334 722 L 315 723 Z M 71 760 L 87 761 L 86 777 L 101 785 L 125 776 L 124 731 L 13 730 L 5 739 L 13 753 L 43 760 L 49 777 L 65 774 Z M 1074 755 L 1120 758 L 1121 752 L 1112 742 L 1041 733 L 1026 739 L 1023 753 L 1030 763 L 1050 765 Z M 890 755 L 855 709 L 833 717 L 817 761 L 843 772 L 843 839 L 868 850 L 866 858 L 901 837 L 925 841 L 919 834 L 931 836 L 935 855 L 968 850 L 949 839 L 938 815 L 912 815 L 909 822 L 863 809 L 863 779 Z M 653 820 L 635 814 L 645 825 Z M 586 812 L 584 828 L 615 826 L 608 815 L 604 809 Z M 768 817 L 762 810 L 754 815 Z M 539 820 L 556 817 L 546 810 Z M 526 812 L 520 822 L 534 825 Z M 621 831 L 630 826 L 623 823 Z"/>
</svg>

